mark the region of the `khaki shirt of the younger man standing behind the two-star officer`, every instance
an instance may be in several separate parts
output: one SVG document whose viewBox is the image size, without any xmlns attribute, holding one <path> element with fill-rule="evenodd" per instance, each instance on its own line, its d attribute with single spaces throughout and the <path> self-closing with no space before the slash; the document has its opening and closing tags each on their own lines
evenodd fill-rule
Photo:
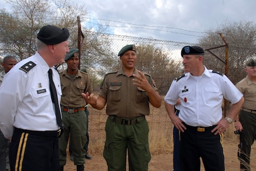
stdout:
<svg viewBox="0 0 256 171">
<path fill-rule="evenodd" d="M 90 76 L 78 70 L 74 79 L 71 80 L 67 73 L 67 69 L 59 73 L 61 77 L 61 105 L 69 108 L 81 108 L 86 105 L 86 100 L 81 93 L 93 92 Z"/>
</svg>

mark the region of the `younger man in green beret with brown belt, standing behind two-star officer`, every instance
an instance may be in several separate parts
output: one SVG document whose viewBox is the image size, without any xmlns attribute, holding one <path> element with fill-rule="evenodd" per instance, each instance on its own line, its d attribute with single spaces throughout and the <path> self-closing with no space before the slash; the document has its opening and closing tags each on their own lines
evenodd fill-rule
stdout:
<svg viewBox="0 0 256 171">
<path fill-rule="evenodd" d="M 86 100 L 81 93 L 93 91 L 91 80 L 87 73 L 78 70 L 78 49 L 70 49 L 65 57 L 68 68 L 60 73 L 61 77 L 61 110 L 64 133 L 59 138 L 59 165 L 64 170 L 67 162 L 67 144 L 69 134 L 72 139 L 70 146 L 74 155 L 74 164 L 77 171 L 84 170 L 86 151 L 83 149 L 86 144 L 86 113 L 84 107 Z"/>
</svg>

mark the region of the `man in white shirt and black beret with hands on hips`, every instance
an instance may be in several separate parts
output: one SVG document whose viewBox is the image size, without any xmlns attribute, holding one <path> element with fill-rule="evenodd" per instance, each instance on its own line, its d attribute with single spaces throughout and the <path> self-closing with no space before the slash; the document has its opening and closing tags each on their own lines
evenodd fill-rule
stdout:
<svg viewBox="0 0 256 171">
<path fill-rule="evenodd" d="M 225 75 L 204 66 L 202 47 L 185 46 L 181 56 L 185 74 L 173 80 L 165 96 L 166 111 L 180 131 L 181 170 L 199 171 L 201 158 L 206 170 L 224 171 L 223 133 L 238 115 L 244 97 Z M 225 118 L 223 98 L 232 104 Z M 176 116 L 178 99 L 181 107 Z"/>
</svg>

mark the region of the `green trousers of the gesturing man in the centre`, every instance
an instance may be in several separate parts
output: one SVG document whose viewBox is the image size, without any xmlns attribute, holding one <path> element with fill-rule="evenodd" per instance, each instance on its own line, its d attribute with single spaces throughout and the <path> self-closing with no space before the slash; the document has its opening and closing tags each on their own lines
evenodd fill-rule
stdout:
<svg viewBox="0 0 256 171">
<path fill-rule="evenodd" d="M 142 120 L 122 125 L 108 118 L 103 156 L 108 171 L 125 171 L 128 151 L 129 171 L 147 171 L 151 155 L 148 146 L 148 123 Z"/>
</svg>

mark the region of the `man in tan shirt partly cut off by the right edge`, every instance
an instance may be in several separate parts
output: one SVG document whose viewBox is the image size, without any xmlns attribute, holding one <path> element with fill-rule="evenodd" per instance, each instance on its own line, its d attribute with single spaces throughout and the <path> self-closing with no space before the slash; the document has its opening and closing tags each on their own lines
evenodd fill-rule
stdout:
<svg viewBox="0 0 256 171">
<path fill-rule="evenodd" d="M 251 146 L 255 142 L 255 121 L 256 121 L 256 60 L 251 58 L 246 63 L 246 77 L 236 83 L 236 88 L 244 95 L 245 101 L 242 109 L 235 118 L 235 129 L 239 131 L 240 136 L 240 160 L 241 170 L 251 170 L 250 157 Z"/>
</svg>

